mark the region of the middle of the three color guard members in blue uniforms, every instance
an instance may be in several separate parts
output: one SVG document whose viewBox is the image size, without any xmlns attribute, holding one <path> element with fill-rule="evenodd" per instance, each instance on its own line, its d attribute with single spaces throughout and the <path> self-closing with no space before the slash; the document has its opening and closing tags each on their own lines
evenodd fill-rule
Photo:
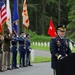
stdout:
<svg viewBox="0 0 75 75">
<path fill-rule="evenodd" d="M 20 33 L 20 37 L 18 38 L 19 42 L 19 54 L 20 54 L 20 67 L 25 67 L 25 38 L 24 33 Z"/>
</svg>

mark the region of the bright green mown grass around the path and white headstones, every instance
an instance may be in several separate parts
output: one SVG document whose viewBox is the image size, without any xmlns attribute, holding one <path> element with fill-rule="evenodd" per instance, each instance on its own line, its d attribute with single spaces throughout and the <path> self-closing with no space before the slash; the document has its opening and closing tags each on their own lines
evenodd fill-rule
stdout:
<svg viewBox="0 0 75 75">
<path fill-rule="evenodd" d="M 49 47 L 48 46 L 31 46 L 32 49 L 35 49 L 35 50 L 46 50 L 46 51 L 49 51 Z M 75 53 L 75 48 L 73 48 L 72 50 L 73 53 Z M 18 63 L 19 63 L 19 54 L 17 56 L 17 59 L 18 59 Z M 51 58 L 50 57 L 42 57 L 42 56 L 35 56 L 35 60 L 34 62 L 32 63 L 42 63 L 42 62 L 50 62 L 51 61 Z"/>
</svg>

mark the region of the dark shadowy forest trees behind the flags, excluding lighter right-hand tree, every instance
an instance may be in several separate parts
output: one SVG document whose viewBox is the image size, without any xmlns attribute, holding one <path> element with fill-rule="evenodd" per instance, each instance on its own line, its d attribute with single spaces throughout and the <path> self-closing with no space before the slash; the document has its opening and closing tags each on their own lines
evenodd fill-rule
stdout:
<svg viewBox="0 0 75 75">
<path fill-rule="evenodd" d="M 61 22 L 63 24 L 68 23 L 68 6 L 66 6 L 68 0 L 61 1 Z M 11 10 L 13 11 L 13 0 L 10 0 Z M 23 30 L 22 25 L 22 9 L 23 0 L 18 2 L 19 9 L 19 31 Z M 27 8 L 30 26 L 28 29 L 36 32 L 37 34 L 47 35 L 50 18 L 54 22 L 55 27 L 58 25 L 58 0 L 27 0 Z"/>
</svg>

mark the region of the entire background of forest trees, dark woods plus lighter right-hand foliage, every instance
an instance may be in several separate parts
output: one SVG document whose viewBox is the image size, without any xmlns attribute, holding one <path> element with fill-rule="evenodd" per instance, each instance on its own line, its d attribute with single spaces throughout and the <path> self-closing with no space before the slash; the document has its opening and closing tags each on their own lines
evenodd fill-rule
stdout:
<svg viewBox="0 0 75 75">
<path fill-rule="evenodd" d="M 11 9 L 13 9 L 13 0 L 11 1 Z M 23 0 L 18 0 L 19 8 L 19 28 L 22 27 L 22 9 Z M 27 0 L 27 9 L 29 15 L 30 26 L 28 29 L 41 35 L 47 35 L 50 18 L 52 18 L 55 27 L 58 25 L 58 10 L 60 9 L 60 23 L 66 24 L 68 34 L 72 34 L 75 30 L 75 0 Z M 73 31 L 73 32 L 72 32 Z M 72 37 L 75 36 L 74 33 Z"/>
</svg>

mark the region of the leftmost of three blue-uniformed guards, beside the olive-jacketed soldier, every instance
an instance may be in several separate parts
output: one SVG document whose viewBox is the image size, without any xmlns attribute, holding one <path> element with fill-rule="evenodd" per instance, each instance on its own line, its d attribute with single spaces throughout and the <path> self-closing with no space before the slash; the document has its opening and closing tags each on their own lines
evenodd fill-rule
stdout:
<svg viewBox="0 0 75 75">
<path fill-rule="evenodd" d="M 18 68 L 17 67 L 17 37 L 13 37 L 12 38 L 12 47 L 11 47 L 11 51 L 12 51 L 12 68 Z"/>
</svg>

